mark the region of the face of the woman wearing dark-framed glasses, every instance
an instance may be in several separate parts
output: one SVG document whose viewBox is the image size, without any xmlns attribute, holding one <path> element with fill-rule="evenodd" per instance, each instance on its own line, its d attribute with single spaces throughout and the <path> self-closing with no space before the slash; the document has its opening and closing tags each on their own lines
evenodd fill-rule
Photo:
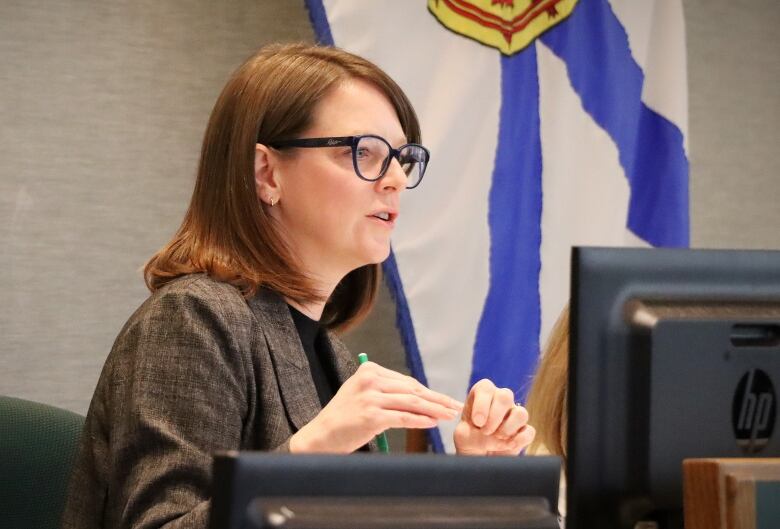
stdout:
<svg viewBox="0 0 780 529">
<path fill-rule="evenodd" d="M 336 86 L 313 118 L 299 137 L 375 134 L 394 148 L 406 143 L 390 101 L 362 80 Z M 355 174 L 350 147 L 286 149 L 276 158 L 275 168 L 279 196 L 270 213 L 307 273 L 340 281 L 355 268 L 387 258 L 406 186 L 397 160 L 375 182 Z"/>
</svg>

